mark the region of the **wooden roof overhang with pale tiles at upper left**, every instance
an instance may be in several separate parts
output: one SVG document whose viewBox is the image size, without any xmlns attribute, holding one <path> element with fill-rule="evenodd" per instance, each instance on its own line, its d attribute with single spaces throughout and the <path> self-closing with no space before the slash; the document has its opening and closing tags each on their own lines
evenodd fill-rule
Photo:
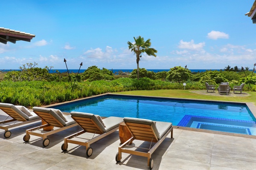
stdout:
<svg viewBox="0 0 256 170">
<path fill-rule="evenodd" d="M 30 42 L 33 37 L 35 37 L 33 34 L 0 27 L 0 42 L 3 44 L 16 43 L 19 40 Z"/>
</svg>

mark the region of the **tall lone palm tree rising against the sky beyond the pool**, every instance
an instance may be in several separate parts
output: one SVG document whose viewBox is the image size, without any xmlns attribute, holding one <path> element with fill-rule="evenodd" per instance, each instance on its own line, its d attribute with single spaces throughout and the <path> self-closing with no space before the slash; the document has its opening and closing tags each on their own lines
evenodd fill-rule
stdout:
<svg viewBox="0 0 256 170">
<path fill-rule="evenodd" d="M 157 53 L 157 50 L 154 48 L 149 48 L 151 46 L 150 39 L 144 41 L 143 37 L 137 37 L 135 38 L 135 43 L 131 43 L 130 41 L 127 42 L 129 50 L 134 51 L 134 54 L 136 54 L 136 62 L 137 62 L 137 79 L 139 79 L 139 73 L 140 73 L 140 68 L 139 68 L 139 61 L 142 53 L 148 54 L 148 56 L 154 56 L 157 57 L 155 53 Z"/>
</svg>

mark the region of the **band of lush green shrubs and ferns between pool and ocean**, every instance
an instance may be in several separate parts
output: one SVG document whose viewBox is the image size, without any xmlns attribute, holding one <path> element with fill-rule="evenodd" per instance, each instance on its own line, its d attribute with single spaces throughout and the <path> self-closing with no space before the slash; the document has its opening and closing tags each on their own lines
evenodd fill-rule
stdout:
<svg viewBox="0 0 256 170">
<path fill-rule="evenodd" d="M 192 90 L 205 89 L 205 82 L 214 85 L 229 82 L 231 88 L 245 83 L 244 91 L 256 91 L 256 74 L 244 69 L 240 72 L 209 70 L 191 73 L 186 67 L 176 66 L 168 72 L 154 73 L 139 68 L 140 79 L 137 79 L 137 69 L 131 72 L 129 78 L 125 77 L 127 75 L 125 78 L 121 75 L 116 78 L 112 71 L 97 66 L 91 66 L 81 74 L 49 74 L 48 67 L 36 68 L 35 65 L 27 63 L 21 67 L 21 71 L 4 74 L 4 79 L 0 81 L 0 102 L 33 107 L 107 92 L 183 89 L 181 82 L 186 83 L 186 89 Z"/>
</svg>

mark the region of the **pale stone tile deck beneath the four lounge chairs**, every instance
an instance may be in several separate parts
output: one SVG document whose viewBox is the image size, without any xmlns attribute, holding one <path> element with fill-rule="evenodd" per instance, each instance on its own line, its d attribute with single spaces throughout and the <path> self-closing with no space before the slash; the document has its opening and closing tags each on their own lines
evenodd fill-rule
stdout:
<svg viewBox="0 0 256 170">
<path fill-rule="evenodd" d="M 6 114 L 0 111 L 0 119 Z M 11 129 L 5 139 L 0 129 L 0 170 L 148 170 L 145 157 L 122 154 L 116 163 L 119 147 L 118 130 L 91 145 L 93 154 L 86 156 L 86 148 L 69 144 L 63 152 L 63 138 L 76 133 L 79 127 L 50 135 L 50 144 L 43 147 L 42 138 L 31 136 L 23 142 L 25 130 L 41 122 Z M 85 136 L 86 137 L 86 136 Z M 154 170 L 255 170 L 256 136 L 221 133 L 175 127 L 153 153 Z M 134 141 L 136 146 L 148 142 Z"/>
</svg>

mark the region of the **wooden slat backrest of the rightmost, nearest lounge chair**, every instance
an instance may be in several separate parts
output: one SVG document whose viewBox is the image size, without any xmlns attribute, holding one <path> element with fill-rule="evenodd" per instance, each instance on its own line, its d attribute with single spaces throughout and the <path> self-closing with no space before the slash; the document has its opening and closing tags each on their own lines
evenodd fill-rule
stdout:
<svg viewBox="0 0 256 170">
<path fill-rule="evenodd" d="M 128 127 L 128 130 L 134 136 L 134 139 L 148 142 L 158 141 L 151 125 L 131 122 L 125 122 L 125 125 Z"/>
</svg>

